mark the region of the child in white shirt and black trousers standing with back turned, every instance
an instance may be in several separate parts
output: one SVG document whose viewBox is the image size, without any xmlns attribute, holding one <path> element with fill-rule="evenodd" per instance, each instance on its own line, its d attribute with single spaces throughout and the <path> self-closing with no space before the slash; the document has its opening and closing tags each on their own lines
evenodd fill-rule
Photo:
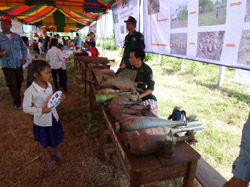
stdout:
<svg viewBox="0 0 250 187">
<path fill-rule="evenodd" d="M 56 91 L 59 90 L 57 82 L 58 76 L 59 76 L 59 85 L 62 85 L 63 83 L 62 65 L 64 63 L 63 54 L 61 50 L 57 48 L 57 44 L 58 44 L 57 39 L 53 38 L 51 40 L 52 48 L 49 49 L 46 55 L 46 60 L 50 62 L 53 83 Z"/>
</svg>

